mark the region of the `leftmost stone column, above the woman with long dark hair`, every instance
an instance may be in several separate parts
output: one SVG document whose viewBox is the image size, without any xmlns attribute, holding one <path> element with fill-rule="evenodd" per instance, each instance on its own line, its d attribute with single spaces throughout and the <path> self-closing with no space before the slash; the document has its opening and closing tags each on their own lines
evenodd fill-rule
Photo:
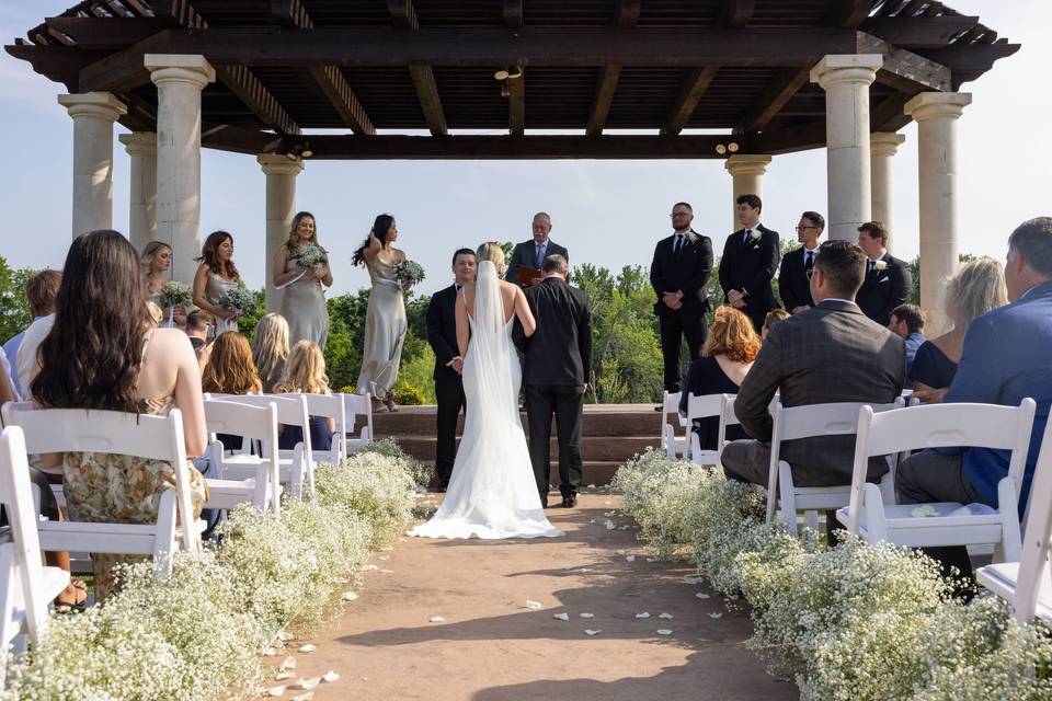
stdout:
<svg viewBox="0 0 1052 701">
<path fill-rule="evenodd" d="M 113 123 L 128 112 L 108 92 L 59 95 L 73 119 L 73 238 L 113 228 Z"/>
</svg>

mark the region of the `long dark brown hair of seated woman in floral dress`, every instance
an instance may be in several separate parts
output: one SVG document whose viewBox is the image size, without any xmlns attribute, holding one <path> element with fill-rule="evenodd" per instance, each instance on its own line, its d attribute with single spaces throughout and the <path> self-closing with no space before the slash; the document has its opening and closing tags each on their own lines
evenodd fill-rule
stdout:
<svg viewBox="0 0 1052 701">
<path fill-rule="evenodd" d="M 73 239 L 55 299 L 55 325 L 39 347 L 30 388 L 43 406 L 138 411 L 146 335 L 139 255 L 112 229 Z"/>
</svg>

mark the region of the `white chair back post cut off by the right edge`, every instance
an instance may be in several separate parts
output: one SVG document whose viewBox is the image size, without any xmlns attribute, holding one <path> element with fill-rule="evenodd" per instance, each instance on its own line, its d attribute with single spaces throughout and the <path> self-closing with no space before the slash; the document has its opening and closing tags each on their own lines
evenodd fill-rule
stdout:
<svg viewBox="0 0 1052 701">
<path fill-rule="evenodd" d="M 1016 619 L 1033 620 L 1042 582 L 1052 579 L 1052 421 L 1045 424 L 1041 452 L 1030 485 L 1030 513 L 1022 532 L 1022 559 L 1016 578 L 1013 611 Z"/>
</svg>

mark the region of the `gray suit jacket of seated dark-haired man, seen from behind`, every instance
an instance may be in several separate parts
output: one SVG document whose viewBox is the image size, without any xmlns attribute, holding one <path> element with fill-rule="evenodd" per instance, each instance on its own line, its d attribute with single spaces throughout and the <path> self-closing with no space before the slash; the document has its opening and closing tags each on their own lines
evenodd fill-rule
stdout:
<svg viewBox="0 0 1052 701">
<path fill-rule="evenodd" d="M 786 407 L 890 404 L 902 391 L 905 363 L 902 338 L 870 321 L 855 303 L 827 300 L 771 327 L 737 392 L 734 413 L 750 436 L 770 443 L 768 405 L 775 392 Z M 849 484 L 855 437 L 787 440 L 781 458 L 799 486 Z M 870 480 L 887 471 L 883 459 L 870 460 Z"/>
</svg>

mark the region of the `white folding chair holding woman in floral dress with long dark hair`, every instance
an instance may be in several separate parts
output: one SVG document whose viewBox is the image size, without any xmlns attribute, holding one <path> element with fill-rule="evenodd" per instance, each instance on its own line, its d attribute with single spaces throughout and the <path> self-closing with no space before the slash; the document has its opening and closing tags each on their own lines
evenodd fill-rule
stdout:
<svg viewBox="0 0 1052 701">
<path fill-rule="evenodd" d="M 160 495 L 157 522 L 42 521 L 37 527 L 41 549 L 153 555 L 161 573 L 168 572 L 168 555 L 179 548 L 176 539 L 184 550 L 199 549 L 204 522 L 194 519 L 191 513 L 186 444 L 178 409 L 168 416 L 84 409 L 5 411 L 4 414 L 8 425 L 22 428 L 31 453 L 135 456 L 168 462 L 175 476 L 175 489 Z"/>
</svg>

